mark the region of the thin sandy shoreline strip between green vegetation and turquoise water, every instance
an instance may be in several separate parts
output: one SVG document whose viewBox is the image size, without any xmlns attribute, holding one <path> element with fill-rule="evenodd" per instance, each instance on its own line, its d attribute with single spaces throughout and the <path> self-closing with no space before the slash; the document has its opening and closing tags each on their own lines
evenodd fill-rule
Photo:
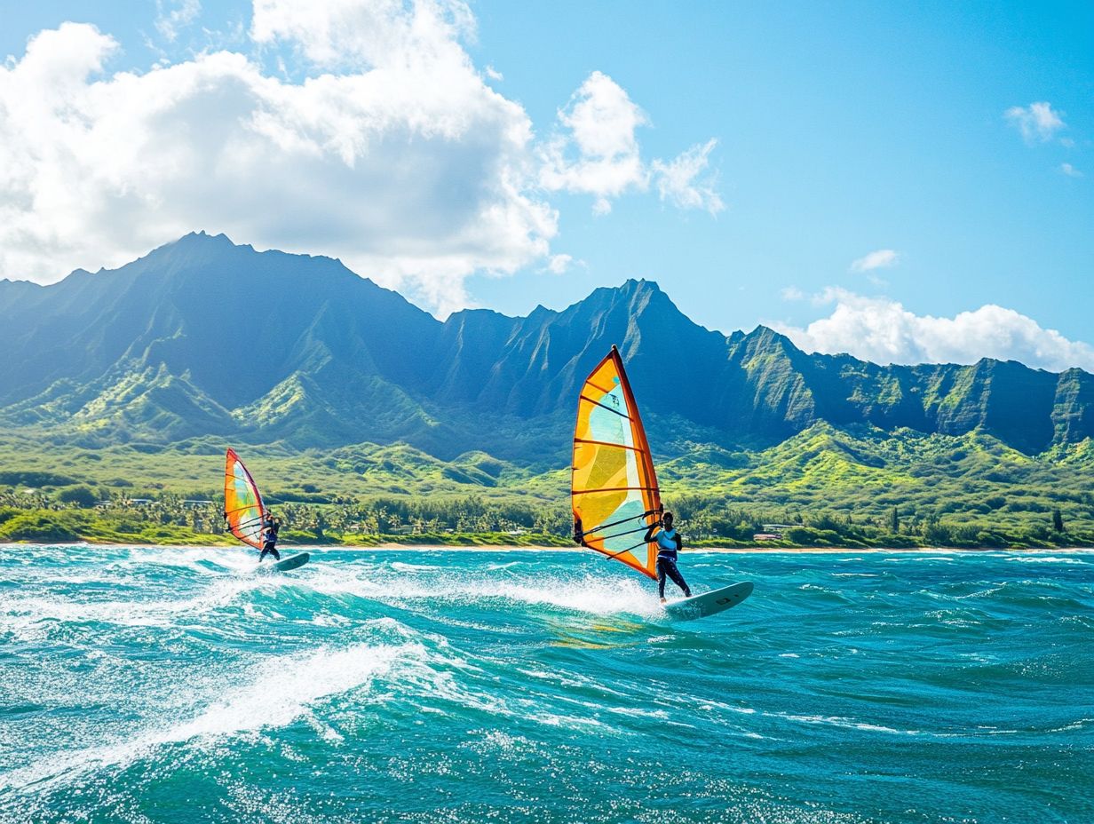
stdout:
<svg viewBox="0 0 1094 824">
<path fill-rule="evenodd" d="M 80 541 L 71 543 L 57 542 L 16 542 L 11 544 L 0 544 L 0 550 L 14 549 L 23 546 L 71 546 L 71 547 L 103 547 L 107 549 L 226 549 L 237 550 L 241 547 L 232 545 L 216 544 L 119 544 L 114 542 L 90 542 Z M 319 553 L 319 552 L 445 552 L 445 553 L 580 553 L 586 549 L 579 546 L 519 546 L 513 544 L 459 546 L 451 544 L 300 544 L 282 545 L 281 552 L 293 553 Z M 595 550 L 587 550 L 595 552 Z M 1029 553 L 1094 553 L 1091 546 L 1068 546 L 1068 547 L 1028 547 L 1025 549 L 1008 549 L 1000 547 L 945 547 L 945 546 L 920 546 L 920 547 L 838 547 L 838 546 L 798 546 L 798 547 L 746 547 L 746 546 L 723 546 L 723 547 L 695 547 L 683 550 L 687 555 L 698 555 L 709 553 L 711 555 L 860 555 L 864 553 L 888 553 L 912 555 L 918 553 L 947 553 L 947 554 L 977 554 L 977 553 L 1003 553 L 1003 554 L 1029 554 Z"/>
</svg>

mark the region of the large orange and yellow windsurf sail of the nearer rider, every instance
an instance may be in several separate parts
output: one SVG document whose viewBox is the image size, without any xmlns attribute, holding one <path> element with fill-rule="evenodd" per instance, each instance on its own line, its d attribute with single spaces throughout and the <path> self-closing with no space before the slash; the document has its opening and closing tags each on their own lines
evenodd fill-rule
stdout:
<svg viewBox="0 0 1094 824">
<path fill-rule="evenodd" d="M 642 538 L 661 509 L 657 475 L 615 347 L 581 388 L 572 471 L 574 539 L 656 578 L 656 547 Z"/>
</svg>

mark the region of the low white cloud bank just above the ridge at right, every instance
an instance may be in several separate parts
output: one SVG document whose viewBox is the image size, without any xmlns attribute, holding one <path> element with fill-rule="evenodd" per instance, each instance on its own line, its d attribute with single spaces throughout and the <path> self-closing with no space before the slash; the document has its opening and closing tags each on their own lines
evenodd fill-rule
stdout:
<svg viewBox="0 0 1094 824">
<path fill-rule="evenodd" d="M 849 352 L 875 363 L 975 363 L 980 358 L 1017 360 L 1060 371 L 1094 371 L 1094 347 L 1069 340 L 1056 329 L 1012 309 L 993 304 L 954 317 L 916 315 L 888 298 L 866 298 L 842 289 L 824 295 L 836 306 L 805 328 L 773 324 L 808 352 Z"/>
</svg>

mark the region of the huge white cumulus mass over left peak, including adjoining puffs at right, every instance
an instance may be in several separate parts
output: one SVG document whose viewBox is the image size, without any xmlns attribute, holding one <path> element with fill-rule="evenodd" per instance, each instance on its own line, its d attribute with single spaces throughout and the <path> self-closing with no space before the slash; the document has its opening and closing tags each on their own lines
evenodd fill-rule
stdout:
<svg viewBox="0 0 1094 824">
<path fill-rule="evenodd" d="M 159 12 L 170 39 L 200 3 Z M 600 72 L 544 150 L 524 108 L 487 84 L 500 74 L 465 50 L 475 19 L 461 0 L 254 0 L 253 12 L 258 57 L 208 48 L 112 72 L 121 45 L 65 23 L 0 65 L 0 277 L 48 282 L 206 229 L 340 257 L 443 313 L 469 303 L 474 272 L 561 265 L 550 192 L 589 192 L 607 210 L 667 174 L 642 163 L 645 115 Z M 266 54 L 295 55 L 295 71 L 271 76 Z M 715 201 L 700 154 L 662 197 Z"/>
</svg>

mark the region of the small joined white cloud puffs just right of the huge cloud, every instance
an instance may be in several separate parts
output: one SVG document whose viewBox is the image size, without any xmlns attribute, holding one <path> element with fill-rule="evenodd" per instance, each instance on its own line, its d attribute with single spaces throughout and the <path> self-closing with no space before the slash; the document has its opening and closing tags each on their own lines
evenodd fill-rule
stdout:
<svg viewBox="0 0 1094 824">
<path fill-rule="evenodd" d="M 682 209 L 721 211 L 715 181 L 708 174 L 718 141 L 694 146 L 672 161 L 647 163 L 637 131 L 648 125 L 645 113 L 618 83 L 592 72 L 559 109 L 558 129 L 540 152 L 540 185 L 548 192 L 592 195 L 595 214 L 607 214 L 614 198 L 645 192 L 651 183 L 663 201 Z"/>
</svg>

